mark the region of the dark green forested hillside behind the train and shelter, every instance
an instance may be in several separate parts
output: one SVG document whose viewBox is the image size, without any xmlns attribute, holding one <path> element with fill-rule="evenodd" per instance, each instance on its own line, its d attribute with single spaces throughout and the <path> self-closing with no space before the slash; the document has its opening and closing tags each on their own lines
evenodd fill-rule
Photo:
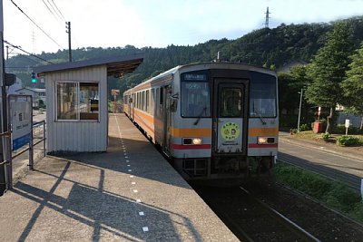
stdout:
<svg viewBox="0 0 363 242">
<path fill-rule="evenodd" d="M 354 45 L 357 49 L 363 40 L 363 16 L 343 21 L 352 27 Z M 87 47 L 73 50 L 73 58 L 74 61 L 80 61 L 112 55 L 144 53 L 144 61 L 136 72 L 110 82 L 110 89 L 121 89 L 123 92 L 128 87 L 176 65 L 210 62 L 216 58 L 218 51 L 223 53 L 227 61 L 273 66 L 277 69 L 295 61 L 309 63 L 313 55 L 326 43 L 327 33 L 333 24 L 280 24 L 274 29 L 263 28 L 252 31 L 236 40 L 211 40 L 194 46 L 171 44 L 166 48 L 141 49 L 132 45 L 106 49 Z M 62 63 L 68 60 L 68 51 L 42 53 L 39 56 L 52 63 Z M 10 58 L 5 66 L 9 67 L 6 68 L 7 73 L 16 73 L 25 85 L 31 86 L 32 67 L 39 64 L 44 63 L 29 55 L 16 55 Z"/>
</svg>

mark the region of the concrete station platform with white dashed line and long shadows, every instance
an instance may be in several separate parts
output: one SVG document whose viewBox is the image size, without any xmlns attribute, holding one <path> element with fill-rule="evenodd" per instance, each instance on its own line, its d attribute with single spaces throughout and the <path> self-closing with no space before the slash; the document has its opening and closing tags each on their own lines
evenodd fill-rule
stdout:
<svg viewBox="0 0 363 242">
<path fill-rule="evenodd" d="M 108 147 L 38 161 L 0 197 L 0 240 L 239 241 L 123 114 Z"/>
</svg>

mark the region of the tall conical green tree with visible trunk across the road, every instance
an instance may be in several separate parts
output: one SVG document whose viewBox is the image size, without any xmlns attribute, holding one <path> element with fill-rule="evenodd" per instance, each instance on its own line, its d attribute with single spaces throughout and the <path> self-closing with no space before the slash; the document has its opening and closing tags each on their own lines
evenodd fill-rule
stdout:
<svg viewBox="0 0 363 242">
<path fill-rule="evenodd" d="M 327 132 L 331 132 L 335 122 L 335 108 L 343 102 L 340 83 L 346 78 L 352 52 L 352 29 L 345 22 L 334 24 L 328 34 L 328 41 L 309 65 L 309 84 L 306 97 L 308 102 L 330 109 Z"/>
</svg>

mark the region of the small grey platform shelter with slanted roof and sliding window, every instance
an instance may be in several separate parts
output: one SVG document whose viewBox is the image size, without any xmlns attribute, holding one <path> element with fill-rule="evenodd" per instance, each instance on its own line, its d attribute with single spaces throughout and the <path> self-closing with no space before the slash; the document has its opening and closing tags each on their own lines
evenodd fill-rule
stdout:
<svg viewBox="0 0 363 242">
<path fill-rule="evenodd" d="M 107 77 L 132 73 L 143 54 L 34 68 L 45 82 L 47 152 L 106 151 Z"/>
</svg>

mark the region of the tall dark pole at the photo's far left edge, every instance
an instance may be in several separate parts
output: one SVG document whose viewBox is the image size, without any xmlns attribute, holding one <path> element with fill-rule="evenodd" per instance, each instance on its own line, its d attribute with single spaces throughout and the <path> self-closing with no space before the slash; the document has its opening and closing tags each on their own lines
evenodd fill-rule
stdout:
<svg viewBox="0 0 363 242">
<path fill-rule="evenodd" d="M 1 98 L 0 98 L 0 132 L 7 131 L 7 105 L 6 105 L 6 87 L 5 87 L 5 65 L 4 65 L 4 15 L 3 15 L 3 0 L 0 0 L 0 84 L 1 84 Z M 5 136 L 0 137 L 0 163 L 6 160 L 5 156 Z M 7 189 L 6 175 L 9 174 L 9 167 L 5 164 L 0 165 L 0 196 L 2 196 Z"/>
</svg>

